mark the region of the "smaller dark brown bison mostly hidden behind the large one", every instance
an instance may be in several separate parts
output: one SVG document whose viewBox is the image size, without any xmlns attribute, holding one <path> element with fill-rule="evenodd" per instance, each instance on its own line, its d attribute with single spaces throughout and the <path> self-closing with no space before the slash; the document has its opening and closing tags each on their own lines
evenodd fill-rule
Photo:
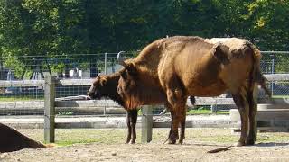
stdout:
<svg viewBox="0 0 289 162">
<path fill-rule="evenodd" d="M 126 109 L 126 125 L 127 125 L 127 138 L 126 143 L 135 143 L 136 131 L 135 125 L 137 121 L 137 110 L 138 107 L 126 107 L 123 98 L 117 94 L 117 85 L 120 78 L 120 70 L 117 73 L 111 75 L 100 75 L 97 76 L 93 84 L 89 88 L 88 96 L 90 99 L 100 99 L 102 97 L 109 97 L 119 105 Z M 191 104 L 194 104 L 194 97 L 191 97 Z M 184 128 L 183 128 L 184 129 Z M 172 130 L 171 130 L 172 132 Z"/>
</svg>

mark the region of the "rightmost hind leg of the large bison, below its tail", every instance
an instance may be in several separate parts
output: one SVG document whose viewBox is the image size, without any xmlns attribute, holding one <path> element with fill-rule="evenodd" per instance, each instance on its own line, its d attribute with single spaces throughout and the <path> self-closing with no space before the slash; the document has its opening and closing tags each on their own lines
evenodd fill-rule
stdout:
<svg viewBox="0 0 289 162">
<path fill-rule="evenodd" d="M 257 88 L 257 87 L 256 87 Z M 256 97 L 254 97 L 255 90 L 247 93 L 247 101 L 249 103 L 249 132 L 247 138 L 247 145 L 254 145 L 256 141 Z"/>
</svg>

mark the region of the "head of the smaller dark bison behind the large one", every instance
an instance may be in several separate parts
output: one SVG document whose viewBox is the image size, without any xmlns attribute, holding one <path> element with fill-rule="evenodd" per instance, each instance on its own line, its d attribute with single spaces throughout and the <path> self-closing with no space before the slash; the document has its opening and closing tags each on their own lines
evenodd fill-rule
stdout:
<svg viewBox="0 0 289 162">
<path fill-rule="evenodd" d="M 100 99 L 106 91 L 107 78 L 105 76 L 97 76 L 89 88 L 88 96 L 90 99 Z"/>
</svg>

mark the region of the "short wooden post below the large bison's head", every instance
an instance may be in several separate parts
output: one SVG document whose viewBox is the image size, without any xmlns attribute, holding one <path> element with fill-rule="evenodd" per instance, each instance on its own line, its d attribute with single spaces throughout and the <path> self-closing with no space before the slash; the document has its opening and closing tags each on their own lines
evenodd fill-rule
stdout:
<svg viewBox="0 0 289 162">
<path fill-rule="evenodd" d="M 153 107 L 151 105 L 144 105 L 142 113 L 142 142 L 148 143 L 152 141 L 153 134 Z"/>
</svg>

